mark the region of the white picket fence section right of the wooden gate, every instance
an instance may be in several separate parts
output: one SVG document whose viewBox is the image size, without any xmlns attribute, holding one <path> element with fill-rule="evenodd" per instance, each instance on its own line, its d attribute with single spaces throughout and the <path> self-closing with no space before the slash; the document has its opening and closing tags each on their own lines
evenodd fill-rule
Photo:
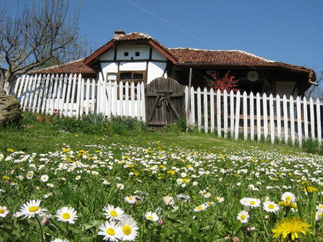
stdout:
<svg viewBox="0 0 323 242">
<path fill-rule="evenodd" d="M 188 104 L 188 87 L 185 88 L 185 105 Z M 191 90 L 189 124 L 195 125 L 199 131 L 204 129 L 205 133 L 214 133 L 217 128 L 218 136 L 227 138 L 230 133 L 232 138 L 238 139 L 240 132 L 243 132 L 244 140 L 250 138 L 260 141 L 261 137 L 267 141 L 270 137 L 272 144 L 277 139 L 280 143 L 282 139 L 287 144 L 291 139 L 292 144 L 298 140 L 302 146 L 302 140 L 318 140 L 321 146 L 321 117 L 320 107 L 323 105 L 319 99 L 309 101 L 304 97 L 294 100 L 291 96 L 279 95 L 269 97 L 266 94 L 255 96 L 251 92 L 246 92 L 241 96 L 238 91 L 236 94 L 231 91 L 221 93 L 220 90 L 214 92 L 212 89 L 207 91 L 204 88 Z M 216 108 L 214 108 L 216 107 Z M 242 108 L 241 108 L 242 107 Z M 197 113 L 196 113 L 197 112 Z M 217 123 L 215 123 L 215 119 Z M 202 122 L 204 124 L 202 125 Z M 295 126 L 297 125 L 297 128 Z"/>
</svg>

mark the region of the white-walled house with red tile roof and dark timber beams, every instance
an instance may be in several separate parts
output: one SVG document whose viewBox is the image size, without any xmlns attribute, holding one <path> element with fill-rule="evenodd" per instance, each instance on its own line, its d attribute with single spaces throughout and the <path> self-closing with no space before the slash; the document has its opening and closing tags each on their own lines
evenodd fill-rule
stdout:
<svg viewBox="0 0 323 242">
<path fill-rule="evenodd" d="M 101 75 L 106 81 L 145 84 L 167 77 L 188 85 L 190 68 L 195 88 L 208 86 L 204 77 L 206 71 L 212 70 L 221 76 L 230 71 L 239 80 L 238 89 L 247 93 L 304 96 L 311 85 L 317 85 L 315 72 L 305 67 L 270 61 L 241 50 L 167 48 L 147 34 L 124 31 L 115 31 L 109 42 L 85 59 L 32 73 L 81 73 L 83 77 Z"/>
</svg>

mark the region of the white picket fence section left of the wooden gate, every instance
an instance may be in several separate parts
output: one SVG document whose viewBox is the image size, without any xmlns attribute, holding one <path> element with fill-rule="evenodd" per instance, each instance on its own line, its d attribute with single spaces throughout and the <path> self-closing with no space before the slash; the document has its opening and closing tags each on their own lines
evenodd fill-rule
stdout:
<svg viewBox="0 0 323 242">
<path fill-rule="evenodd" d="M 80 116 L 90 111 L 131 116 L 146 120 L 144 84 L 84 79 L 80 75 L 23 75 L 10 87 L 22 110 L 65 116 Z"/>
</svg>

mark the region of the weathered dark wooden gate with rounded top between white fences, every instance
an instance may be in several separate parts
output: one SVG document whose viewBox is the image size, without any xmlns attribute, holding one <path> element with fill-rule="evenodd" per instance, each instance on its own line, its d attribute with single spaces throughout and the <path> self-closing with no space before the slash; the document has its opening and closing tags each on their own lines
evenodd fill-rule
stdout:
<svg viewBox="0 0 323 242">
<path fill-rule="evenodd" d="M 158 77 L 146 87 L 146 120 L 154 130 L 185 116 L 184 88 L 176 80 Z"/>
</svg>

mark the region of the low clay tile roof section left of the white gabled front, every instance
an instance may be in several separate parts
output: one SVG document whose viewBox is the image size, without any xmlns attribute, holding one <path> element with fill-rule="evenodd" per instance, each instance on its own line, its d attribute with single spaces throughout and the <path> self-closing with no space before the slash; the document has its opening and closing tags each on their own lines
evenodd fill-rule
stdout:
<svg viewBox="0 0 323 242">
<path fill-rule="evenodd" d="M 34 70 L 32 74 L 70 74 L 70 73 L 81 73 L 81 74 L 96 74 L 96 72 L 89 66 L 84 64 L 84 59 L 79 59 L 78 61 L 70 62 L 64 65 L 54 66 L 45 68 L 42 70 Z"/>
</svg>

